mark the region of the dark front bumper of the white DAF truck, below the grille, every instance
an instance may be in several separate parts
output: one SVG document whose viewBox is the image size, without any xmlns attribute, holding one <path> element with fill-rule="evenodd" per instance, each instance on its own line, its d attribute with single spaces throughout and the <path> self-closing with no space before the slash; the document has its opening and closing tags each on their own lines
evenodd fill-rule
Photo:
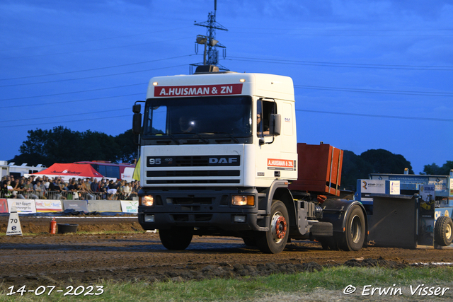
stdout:
<svg viewBox="0 0 453 302">
<path fill-rule="evenodd" d="M 145 230 L 173 226 L 216 228 L 223 231 L 265 231 L 266 217 L 258 214 L 256 190 L 150 190 L 153 207 L 139 206 L 139 223 Z M 231 194 L 254 194 L 254 206 L 231 205 Z M 262 211 L 261 211 L 262 212 Z"/>
</svg>

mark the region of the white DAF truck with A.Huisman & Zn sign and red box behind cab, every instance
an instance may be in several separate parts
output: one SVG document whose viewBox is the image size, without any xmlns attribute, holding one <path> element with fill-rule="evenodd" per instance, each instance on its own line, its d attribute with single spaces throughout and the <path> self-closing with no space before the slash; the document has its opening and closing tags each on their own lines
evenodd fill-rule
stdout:
<svg viewBox="0 0 453 302">
<path fill-rule="evenodd" d="M 297 144 L 289 77 L 200 66 L 151 79 L 142 103 L 138 219 L 165 248 L 184 250 L 193 236 L 236 236 L 266 253 L 291 239 L 366 242 L 362 204 L 338 198 L 341 150 Z"/>
</svg>

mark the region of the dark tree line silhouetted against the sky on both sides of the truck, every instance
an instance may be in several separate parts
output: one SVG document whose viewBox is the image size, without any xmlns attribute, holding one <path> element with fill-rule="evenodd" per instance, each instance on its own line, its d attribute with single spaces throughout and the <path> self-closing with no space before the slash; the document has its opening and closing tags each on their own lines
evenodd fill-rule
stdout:
<svg viewBox="0 0 453 302">
<path fill-rule="evenodd" d="M 133 163 L 138 156 L 138 147 L 134 143 L 132 129 L 116 137 L 93 132 L 71 131 L 63 126 L 52 130 L 29 130 L 28 136 L 19 151 L 20 155 L 11 160 L 17 165 L 43 164 L 47 167 L 54 163 L 74 163 L 76 161 L 111 161 L 113 163 Z M 341 188 L 355 190 L 357 179 L 368 178 L 369 173 L 402 174 L 404 168 L 413 174 L 411 162 L 401 154 L 394 154 L 384 149 L 371 149 L 356 155 L 352 151 L 343 152 L 343 170 Z M 435 163 L 425 165 L 423 173 L 427 175 L 449 175 L 453 161 L 439 166 Z"/>
</svg>

